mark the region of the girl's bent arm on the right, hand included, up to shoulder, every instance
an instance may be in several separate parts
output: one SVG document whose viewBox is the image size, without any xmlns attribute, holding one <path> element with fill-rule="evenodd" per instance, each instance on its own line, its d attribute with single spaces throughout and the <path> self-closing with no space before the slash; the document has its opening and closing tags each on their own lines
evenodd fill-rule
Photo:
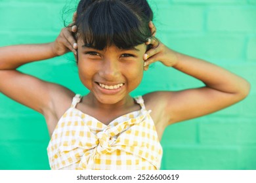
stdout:
<svg viewBox="0 0 256 183">
<path fill-rule="evenodd" d="M 201 80 L 205 87 L 182 90 L 179 92 L 161 92 L 160 101 L 164 105 L 167 125 L 203 116 L 228 107 L 244 99 L 249 93 L 249 83 L 240 76 L 225 69 L 192 58 L 167 48 L 152 39 L 153 48 L 144 57 L 146 69 L 150 63 L 160 60 L 167 67 L 173 67 Z M 159 94 L 159 93 L 158 93 Z"/>
</svg>

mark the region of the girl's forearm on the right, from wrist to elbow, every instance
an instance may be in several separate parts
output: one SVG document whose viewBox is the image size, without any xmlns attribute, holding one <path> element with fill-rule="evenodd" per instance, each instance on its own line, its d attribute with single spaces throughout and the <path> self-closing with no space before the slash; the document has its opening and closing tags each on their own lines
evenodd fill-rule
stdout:
<svg viewBox="0 0 256 183">
<path fill-rule="evenodd" d="M 176 54 L 177 63 L 173 67 L 201 80 L 206 87 L 219 92 L 237 94 L 238 98 L 244 98 L 248 94 L 249 83 L 244 78 L 202 59 Z"/>
</svg>

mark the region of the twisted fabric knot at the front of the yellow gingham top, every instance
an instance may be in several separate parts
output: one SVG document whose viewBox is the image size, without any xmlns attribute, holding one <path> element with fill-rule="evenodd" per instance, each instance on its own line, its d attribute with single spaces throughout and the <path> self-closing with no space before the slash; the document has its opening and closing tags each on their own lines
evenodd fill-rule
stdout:
<svg viewBox="0 0 256 183">
<path fill-rule="evenodd" d="M 96 134 L 98 141 L 96 144 L 96 151 L 98 154 L 106 154 L 108 152 L 113 152 L 115 148 L 112 148 L 112 143 L 116 140 L 111 137 L 108 133 L 100 131 Z"/>
</svg>

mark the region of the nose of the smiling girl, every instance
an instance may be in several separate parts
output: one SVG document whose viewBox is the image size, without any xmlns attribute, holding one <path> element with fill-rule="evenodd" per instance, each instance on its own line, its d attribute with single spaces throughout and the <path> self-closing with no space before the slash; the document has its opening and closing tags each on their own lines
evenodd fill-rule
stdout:
<svg viewBox="0 0 256 183">
<path fill-rule="evenodd" d="M 107 80 L 113 80 L 118 78 L 120 75 L 118 61 L 114 59 L 105 59 L 100 68 L 100 76 L 106 78 Z"/>
</svg>

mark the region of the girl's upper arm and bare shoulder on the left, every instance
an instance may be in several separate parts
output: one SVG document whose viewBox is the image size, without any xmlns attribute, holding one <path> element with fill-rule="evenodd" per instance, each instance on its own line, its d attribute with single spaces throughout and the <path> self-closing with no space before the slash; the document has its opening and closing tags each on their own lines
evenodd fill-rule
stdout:
<svg viewBox="0 0 256 183">
<path fill-rule="evenodd" d="M 45 116 L 47 125 L 56 121 L 70 107 L 74 92 L 60 84 L 41 80 L 16 70 L 1 70 L 0 92 Z M 49 127 L 50 129 L 50 127 Z"/>
</svg>

